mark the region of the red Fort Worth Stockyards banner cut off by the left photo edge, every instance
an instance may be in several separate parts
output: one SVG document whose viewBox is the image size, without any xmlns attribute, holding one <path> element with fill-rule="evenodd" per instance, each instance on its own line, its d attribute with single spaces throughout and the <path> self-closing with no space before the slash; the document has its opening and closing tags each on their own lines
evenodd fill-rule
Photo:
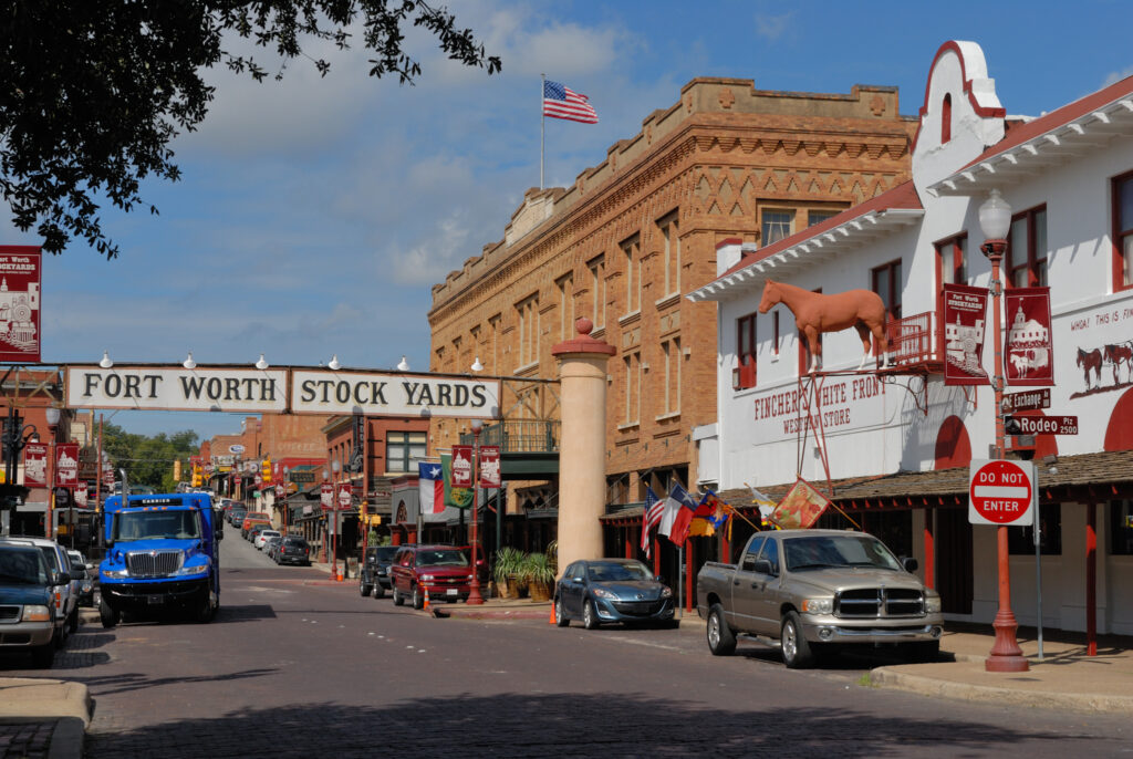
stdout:
<svg viewBox="0 0 1133 759">
<path fill-rule="evenodd" d="M 0 245 L 0 361 L 40 360 L 40 249 Z"/>
</svg>

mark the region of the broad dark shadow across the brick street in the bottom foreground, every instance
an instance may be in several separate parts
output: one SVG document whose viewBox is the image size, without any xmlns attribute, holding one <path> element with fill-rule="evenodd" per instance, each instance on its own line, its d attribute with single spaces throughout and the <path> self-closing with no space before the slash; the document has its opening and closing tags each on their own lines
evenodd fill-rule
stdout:
<svg viewBox="0 0 1133 759">
<path fill-rule="evenodd" d="M 411 730 L 427 715 L 427 730 Z M 658 757 L 1006 754 L 1020 741 L 1057 748 L 1081 735 L 1047 735 L 940 718 L 854 709 L 768 706 L 705 709 L 644 693 L 502 693 L 407 699 L 391 706 L 304 702 L 87 734 L 88 759 L 152 750 L 162 756 L 258 756 L 265 730 L 273 759 L 367 757 Z M 397 737 L 394 737 L 397 736 Z M 266 756 L 266 754 L 265 754 Z"/>
</svg>

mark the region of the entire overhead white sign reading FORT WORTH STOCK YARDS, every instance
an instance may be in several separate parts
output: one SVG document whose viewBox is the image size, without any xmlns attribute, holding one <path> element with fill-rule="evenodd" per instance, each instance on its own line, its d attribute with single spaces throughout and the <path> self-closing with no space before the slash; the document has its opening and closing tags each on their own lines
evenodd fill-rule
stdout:
<svg viewBox="0 0 1133 759">
<path fill-rule="evenodd" d="M 68 366 L 67 406 L 75 409 L 361 413 L 494 419 L 499 380 L 327 369 Z"/>
</svg>

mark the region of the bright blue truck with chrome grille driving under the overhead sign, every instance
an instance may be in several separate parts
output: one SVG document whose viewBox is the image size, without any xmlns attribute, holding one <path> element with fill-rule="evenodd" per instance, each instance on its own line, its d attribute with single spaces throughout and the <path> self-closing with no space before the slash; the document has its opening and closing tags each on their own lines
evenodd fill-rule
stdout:
<svg viewBox="0 0 1133 759">
<path fill-rule="evenodd" d="M 223 526 L 207 493 L 120 495 L 103 505 L 107 557 L 99 564 L 102 626 L 131 615 L 189 614 L 212 620 L 220 607 Z"/>
</svg>

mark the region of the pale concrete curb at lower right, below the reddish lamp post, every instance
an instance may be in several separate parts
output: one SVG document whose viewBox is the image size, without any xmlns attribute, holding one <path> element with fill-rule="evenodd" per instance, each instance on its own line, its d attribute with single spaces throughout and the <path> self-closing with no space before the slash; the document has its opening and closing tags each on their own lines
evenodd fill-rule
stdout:
<svg viewBox="0 0 1133 759">
<path fill-rule="evenodd" d="M 970 659 L 971 657 L 969 657 Z M 935 696 L 965 701 L 994 701 L 999 705 L 1070 709 L 1074 711 L 1106 711 L 1128 715 L 1133 713 L 1133 697 L 1100 693 L 1059 693 L 1053 690 L 1015 690 L 994 685 L 938 680 L 900 672 L 896 667 L 878 667 L 869 673 L 869 684 L 892 688 L 922 696 Z"/>
</svg>

